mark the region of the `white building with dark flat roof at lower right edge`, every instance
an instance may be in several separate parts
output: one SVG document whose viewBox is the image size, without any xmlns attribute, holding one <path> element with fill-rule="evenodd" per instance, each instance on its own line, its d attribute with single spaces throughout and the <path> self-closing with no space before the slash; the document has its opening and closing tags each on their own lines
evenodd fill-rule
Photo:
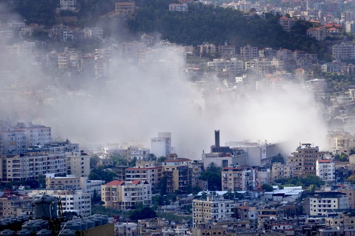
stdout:
<svg viewBox="0 0 355 236">
<path fill-rule="evenodd" d="M 310 215 L 327 215 L 327 210 L 350 209 L 349 197 L 340 192 L 323 192 L 310 197 Z"/>
</svg>

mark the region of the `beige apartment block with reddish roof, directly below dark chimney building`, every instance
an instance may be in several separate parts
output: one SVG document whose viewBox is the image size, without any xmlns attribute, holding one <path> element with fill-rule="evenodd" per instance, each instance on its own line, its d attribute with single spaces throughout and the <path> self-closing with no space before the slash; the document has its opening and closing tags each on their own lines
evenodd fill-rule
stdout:
<svg viewBox="0 0 355 236">
<path fill-rule="evenodd" d="M 224 167 L 222 169 L 222 190 L 248 191 L 256 189 L 256 172 L 252 167 Z"/>
</svg>

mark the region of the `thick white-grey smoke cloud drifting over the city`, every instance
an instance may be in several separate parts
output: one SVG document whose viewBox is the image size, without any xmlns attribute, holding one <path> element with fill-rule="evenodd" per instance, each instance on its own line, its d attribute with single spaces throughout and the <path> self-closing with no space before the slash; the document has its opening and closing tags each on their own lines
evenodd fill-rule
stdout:
<svg viewBox="0 0 355 236">
<path fill-rule="evenodd" d="M 0 46 L 7 45 L 11 44 L 1 41 Z M 123 58 L 109 62 L 114 72 L 108 81 L 85 77 L 72 81 L 81 84 L 81 91 L 60 87 L 55 75 L 48 76 L 33 65 L 33 58 L 14 58 L 16 67 L 9 67 L 9 60 L 2 60 L 0 67 L 9 68 L 20 82 L 3 76 L 2 84 L 20 84 L 27 92 L 40 94 L 42 100 L 51 99 L 51 103 L 32 104 L 34 109 L 29 111 L 19 109 L 16 99 L 2 98 L 1 118 L 40 121 L 52 127 L 53 136 L 72 142 L 88 145 L 141 141 L 149 145 L 150 138 L 165 131 L 172 132 L 173 146 L 179 156 L 198 159 L 202 150 L 209 151 L 214 143 L 214 129 L 220 129 L 221 144 L 245 139 L 287 140 L 292 146 L 286 148 L 286 153 L 293 151 L 299 142 L 325 147 L 327 127 L 322 107 L 308 91 L 236 89 L 232 96 L 217 92 L 223 87 L 217 80 L 213 80 L 209 89 L 203 89 L 181 74 L 185 58 L 180 51 L 157 52 L 157 60 L 148 60 L 144 67 Z M 19 117 L 11 115 L 14 111 Z"/>
</svg>

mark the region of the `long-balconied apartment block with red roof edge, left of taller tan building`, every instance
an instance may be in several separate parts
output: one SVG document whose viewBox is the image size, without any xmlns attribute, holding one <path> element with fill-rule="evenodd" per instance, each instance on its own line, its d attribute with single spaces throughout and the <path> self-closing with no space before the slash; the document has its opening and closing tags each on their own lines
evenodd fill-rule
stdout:
<svg viewBox="0 0 355 236">
<path fill-rule="evenodd" d="M 157 184 L 162 175 L 163 167 L 161 166 L 137 163 L 135 167 L 126 168 L 126 181 L 145 180 L 152 185 L 152 191 L 157 190 Z"/>
</svg>

